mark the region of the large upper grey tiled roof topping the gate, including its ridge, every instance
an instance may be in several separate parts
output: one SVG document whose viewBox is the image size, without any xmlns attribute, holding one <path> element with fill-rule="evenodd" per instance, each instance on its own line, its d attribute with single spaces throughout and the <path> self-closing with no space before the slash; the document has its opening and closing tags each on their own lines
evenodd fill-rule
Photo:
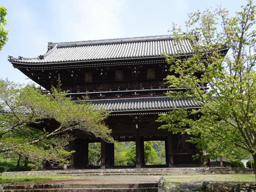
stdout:
<svg viewBox="0 0 256 192">
<path fill-rule="evenodd" d="M 191 44 L 182 40 L 177 42 L 172 35 L 149 37 L 105 39 L 48 43 L 48 52 L 44 55 L 25 58 L 10 57 L 10 62 L 25 64 L 46 64 L 77 61 L 134 59 L 159 57 L 161 53 L 189 54 Z"/>
</svg>

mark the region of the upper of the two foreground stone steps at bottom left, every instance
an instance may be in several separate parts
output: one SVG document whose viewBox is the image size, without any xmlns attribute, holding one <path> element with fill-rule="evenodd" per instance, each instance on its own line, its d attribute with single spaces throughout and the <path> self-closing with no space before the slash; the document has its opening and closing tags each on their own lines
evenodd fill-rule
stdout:
<svg viewBox="0 0 256 192">
<path fill-rule="evenodd" d="M 3 189 L 56 189 L 56 188 L 155 188 L 155 183 L 111 183 L 111 184 L 37 184 L 37 185 L 4 185 Z"/>
</svg>

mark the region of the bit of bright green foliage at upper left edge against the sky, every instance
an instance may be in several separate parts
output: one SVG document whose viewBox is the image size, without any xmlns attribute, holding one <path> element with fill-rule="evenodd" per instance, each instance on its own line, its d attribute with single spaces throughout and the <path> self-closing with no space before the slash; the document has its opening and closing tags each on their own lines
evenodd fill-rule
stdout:
<svg viewBox="0 0 256 192">
<path fill-rule="evenodd" d="M 8 30 L 4 30 L 4 26 L 7 25 L 5 16 L 7 15 L 7 8 L 0 6 L 0 50 L 8 40 Z"/>
</svg>

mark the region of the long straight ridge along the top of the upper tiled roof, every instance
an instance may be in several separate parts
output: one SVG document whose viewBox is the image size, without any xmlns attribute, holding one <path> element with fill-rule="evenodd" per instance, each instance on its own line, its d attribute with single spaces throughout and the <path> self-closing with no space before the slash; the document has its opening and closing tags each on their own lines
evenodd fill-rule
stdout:
<svg viewBox="0 0 256 192">
<path fill-rule="evenodd" d="M 99 39 L 99 40 L 88 40 L 88 41 L 71 41 L 71 42 L 58 42 L 58 43 L 48 43 L 48 47 L 54 47 L 57 45 L 60 47 L 71 47 L 71 46 L 86 46 L 86 45 L 105 45 L 105 44 L 120 44 L 129 42 L 145 42 L 145 41 L 162 41 L 162 40 L 172 40 L 174 35 L 154 35 L 154 36 L 144 36 L 144 37 L 128 37 L 128 38 L 116 38 L 116 39 Z"/>
</svg>

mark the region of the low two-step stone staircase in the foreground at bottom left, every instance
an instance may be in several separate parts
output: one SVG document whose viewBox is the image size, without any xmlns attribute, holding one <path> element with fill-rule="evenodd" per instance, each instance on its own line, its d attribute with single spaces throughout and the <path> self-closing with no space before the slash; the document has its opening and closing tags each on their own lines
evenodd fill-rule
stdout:
<svg viewBox="0 0 256 192">
<path fill-rule="evenodd" d="M 158 183 L 2 185 L 1 192 L 158 192 Z"/>
</svg>

